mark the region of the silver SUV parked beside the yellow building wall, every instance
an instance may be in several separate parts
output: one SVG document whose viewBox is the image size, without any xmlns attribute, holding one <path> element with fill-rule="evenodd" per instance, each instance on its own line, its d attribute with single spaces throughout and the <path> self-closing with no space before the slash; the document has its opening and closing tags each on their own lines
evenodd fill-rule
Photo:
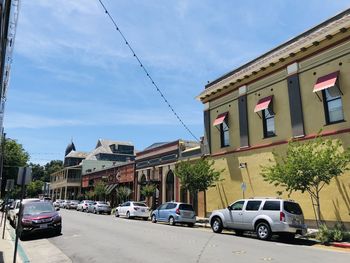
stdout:
<svg viewBox="0 0 350 263">
<path fill-rule="evenodd" d="M 272 234 L 293 239 L 295 234 L 304 235 L 303 211 L 298 203 L 278 198 L 241 199 L 226 209 L 215 210 L 209 218 L 215 233 L 233 229 L 237 235 L 255 231 L 258 238 L 268 240 Z"/>
</svg>

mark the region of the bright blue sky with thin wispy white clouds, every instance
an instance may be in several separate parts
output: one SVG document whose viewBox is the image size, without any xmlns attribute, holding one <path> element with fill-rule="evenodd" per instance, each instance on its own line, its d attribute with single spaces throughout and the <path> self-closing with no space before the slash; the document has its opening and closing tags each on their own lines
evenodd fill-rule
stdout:
<svg viewBox="0 0 350 263">
<path fill-rule="evenodd" d="M 334 0 L 102 0 L 194 135 L 203 136 L 208 81 L 350 7 Z M 68 143 L 194 138 L 152 86 L 98 0 L 22 0 L 4 117 L 33 163 Z"/>
</svg>

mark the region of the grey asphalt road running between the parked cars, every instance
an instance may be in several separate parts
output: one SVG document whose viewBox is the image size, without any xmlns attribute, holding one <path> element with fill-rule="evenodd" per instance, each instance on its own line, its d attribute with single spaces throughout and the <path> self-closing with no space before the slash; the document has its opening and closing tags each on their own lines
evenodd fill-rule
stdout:
<svg viewBox="0 0 350 263">
<path fill-rule="evenodd" d="M 350 253 L 210 229 L 153 224 L 61 210 L 63 231 L 49 241 L 73 262 L 350 262 Z M 36 242 L 35 240 L 29 242 Z"/>
</svg>

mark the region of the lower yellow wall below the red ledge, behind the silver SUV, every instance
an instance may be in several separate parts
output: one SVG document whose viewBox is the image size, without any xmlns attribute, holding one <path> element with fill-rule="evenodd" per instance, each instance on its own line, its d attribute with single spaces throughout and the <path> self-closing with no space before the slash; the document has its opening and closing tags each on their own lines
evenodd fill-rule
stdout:
<svg viewBox="0 0 350 263">
<path fill-rule="evenodd" d="M 350 135 L 343 133 L 333 135 L 327 138 L 341 139 L 344 147 L 350 147 Z M 215 169 L 225 169 L 221 178 L 224 179 L 216 187 L 207 191 L 207 212 L 215 209 L 222 209 L 233 201 L 243 198 L 241 183 L 245 182 L 247 189 L 245 197 L 271 197 L 277 196 L 276 192 L 283 190 L 274 185 L 265 182 L 260 175 L 261 166 L 269 165 L 270 160 L 276 161 L 272 151 L 283 154 L 286 151 L 287 144 L 273 147 L 265 147 L 253 151 L 244 151 L 217 156 L 215 160 Z M 239 168 L 239 163 L 247 163 L 246 168 Z M 325 186 L 321 191 L 321 213 L 326 221 L 350 222 L 350 172 L 333 179 L 330 185 Z M 300 203 L 305 219 L 314 220 L 315 215 L 311 199 L 307 193 L 293 193 L 288 197 L 287 193 L 283 198 L 291 198 Z"/>
</svg>

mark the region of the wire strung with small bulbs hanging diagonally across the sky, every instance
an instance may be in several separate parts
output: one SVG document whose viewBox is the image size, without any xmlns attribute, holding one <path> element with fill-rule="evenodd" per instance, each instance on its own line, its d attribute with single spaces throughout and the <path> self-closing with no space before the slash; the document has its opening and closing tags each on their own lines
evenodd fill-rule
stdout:
<svg viewBox="0 0 350 263">
<path fill-rule="evenodd" d="M 137 62 L 140 64 L 141 68 L 143 69 L 143 71 L 145 72 L 146 76 L 149 78 L 149 80 L 151 81 L 152 85 L 156 88 L 156 90 L 158 91 L 158 93 L 160 94 L 160 96 L 162 97 L 162 99 L 164 100 L 164 102 L 168 105 L 169 109 L 172 111 L 172 113 L 175 115 L 175 117 L 178 119 L 178 121 L 182 124 L 182 126 L 191 134 L 191 136 L 196 140 L 199 141 L 198 138 L 194 135 L 194 133 L 187 127 L 187 125 L 183 122 L 183 120 L 180 118 L 180 116 L 176 113 L 175 109 L 173 108 L 173 106 L 171 106 L 171 104 L 169 103 L 168 99 L 164 96 L 163 92 L 161 91 L 161 89 L 159 88 L 159 86 L 156 84 L 156 82 L 154 81 L 154 79 L 152 78 L 152 76 L 149 74 L 148 70 L 146 69 L 146 67 L 144 66 L 144 64 L 141 62 L 141 59 L 139 58 L 139 56 L 135 53 L 134 49 L 131 47 L 131 45 L 129 44 L 129 41 L 126 39 L 126 37 L 124 36 L 124 34 L 122 33 L 122 31 L 120 30 L 119 26 L 117 25 L 116 20 L 112 17 L 112 15 L 109 13 L 109 11 L 107 10 L 106 6 L 103 4 L 102 0 L 98 0 L 102 6 L 102 8 L 104 9 L 105 13 L 107 14 L 107 16 L 109 17 L 109 19 L 112 21 L 113 25 L 115 26 L 115 30 L 120 34 L 120 36 L 123 38 L 125 44 L 128 46 L 129 50 L 131 51 L 132 55 L 134 56 L 134 58 L 137 60 Z"/>
</svg>

